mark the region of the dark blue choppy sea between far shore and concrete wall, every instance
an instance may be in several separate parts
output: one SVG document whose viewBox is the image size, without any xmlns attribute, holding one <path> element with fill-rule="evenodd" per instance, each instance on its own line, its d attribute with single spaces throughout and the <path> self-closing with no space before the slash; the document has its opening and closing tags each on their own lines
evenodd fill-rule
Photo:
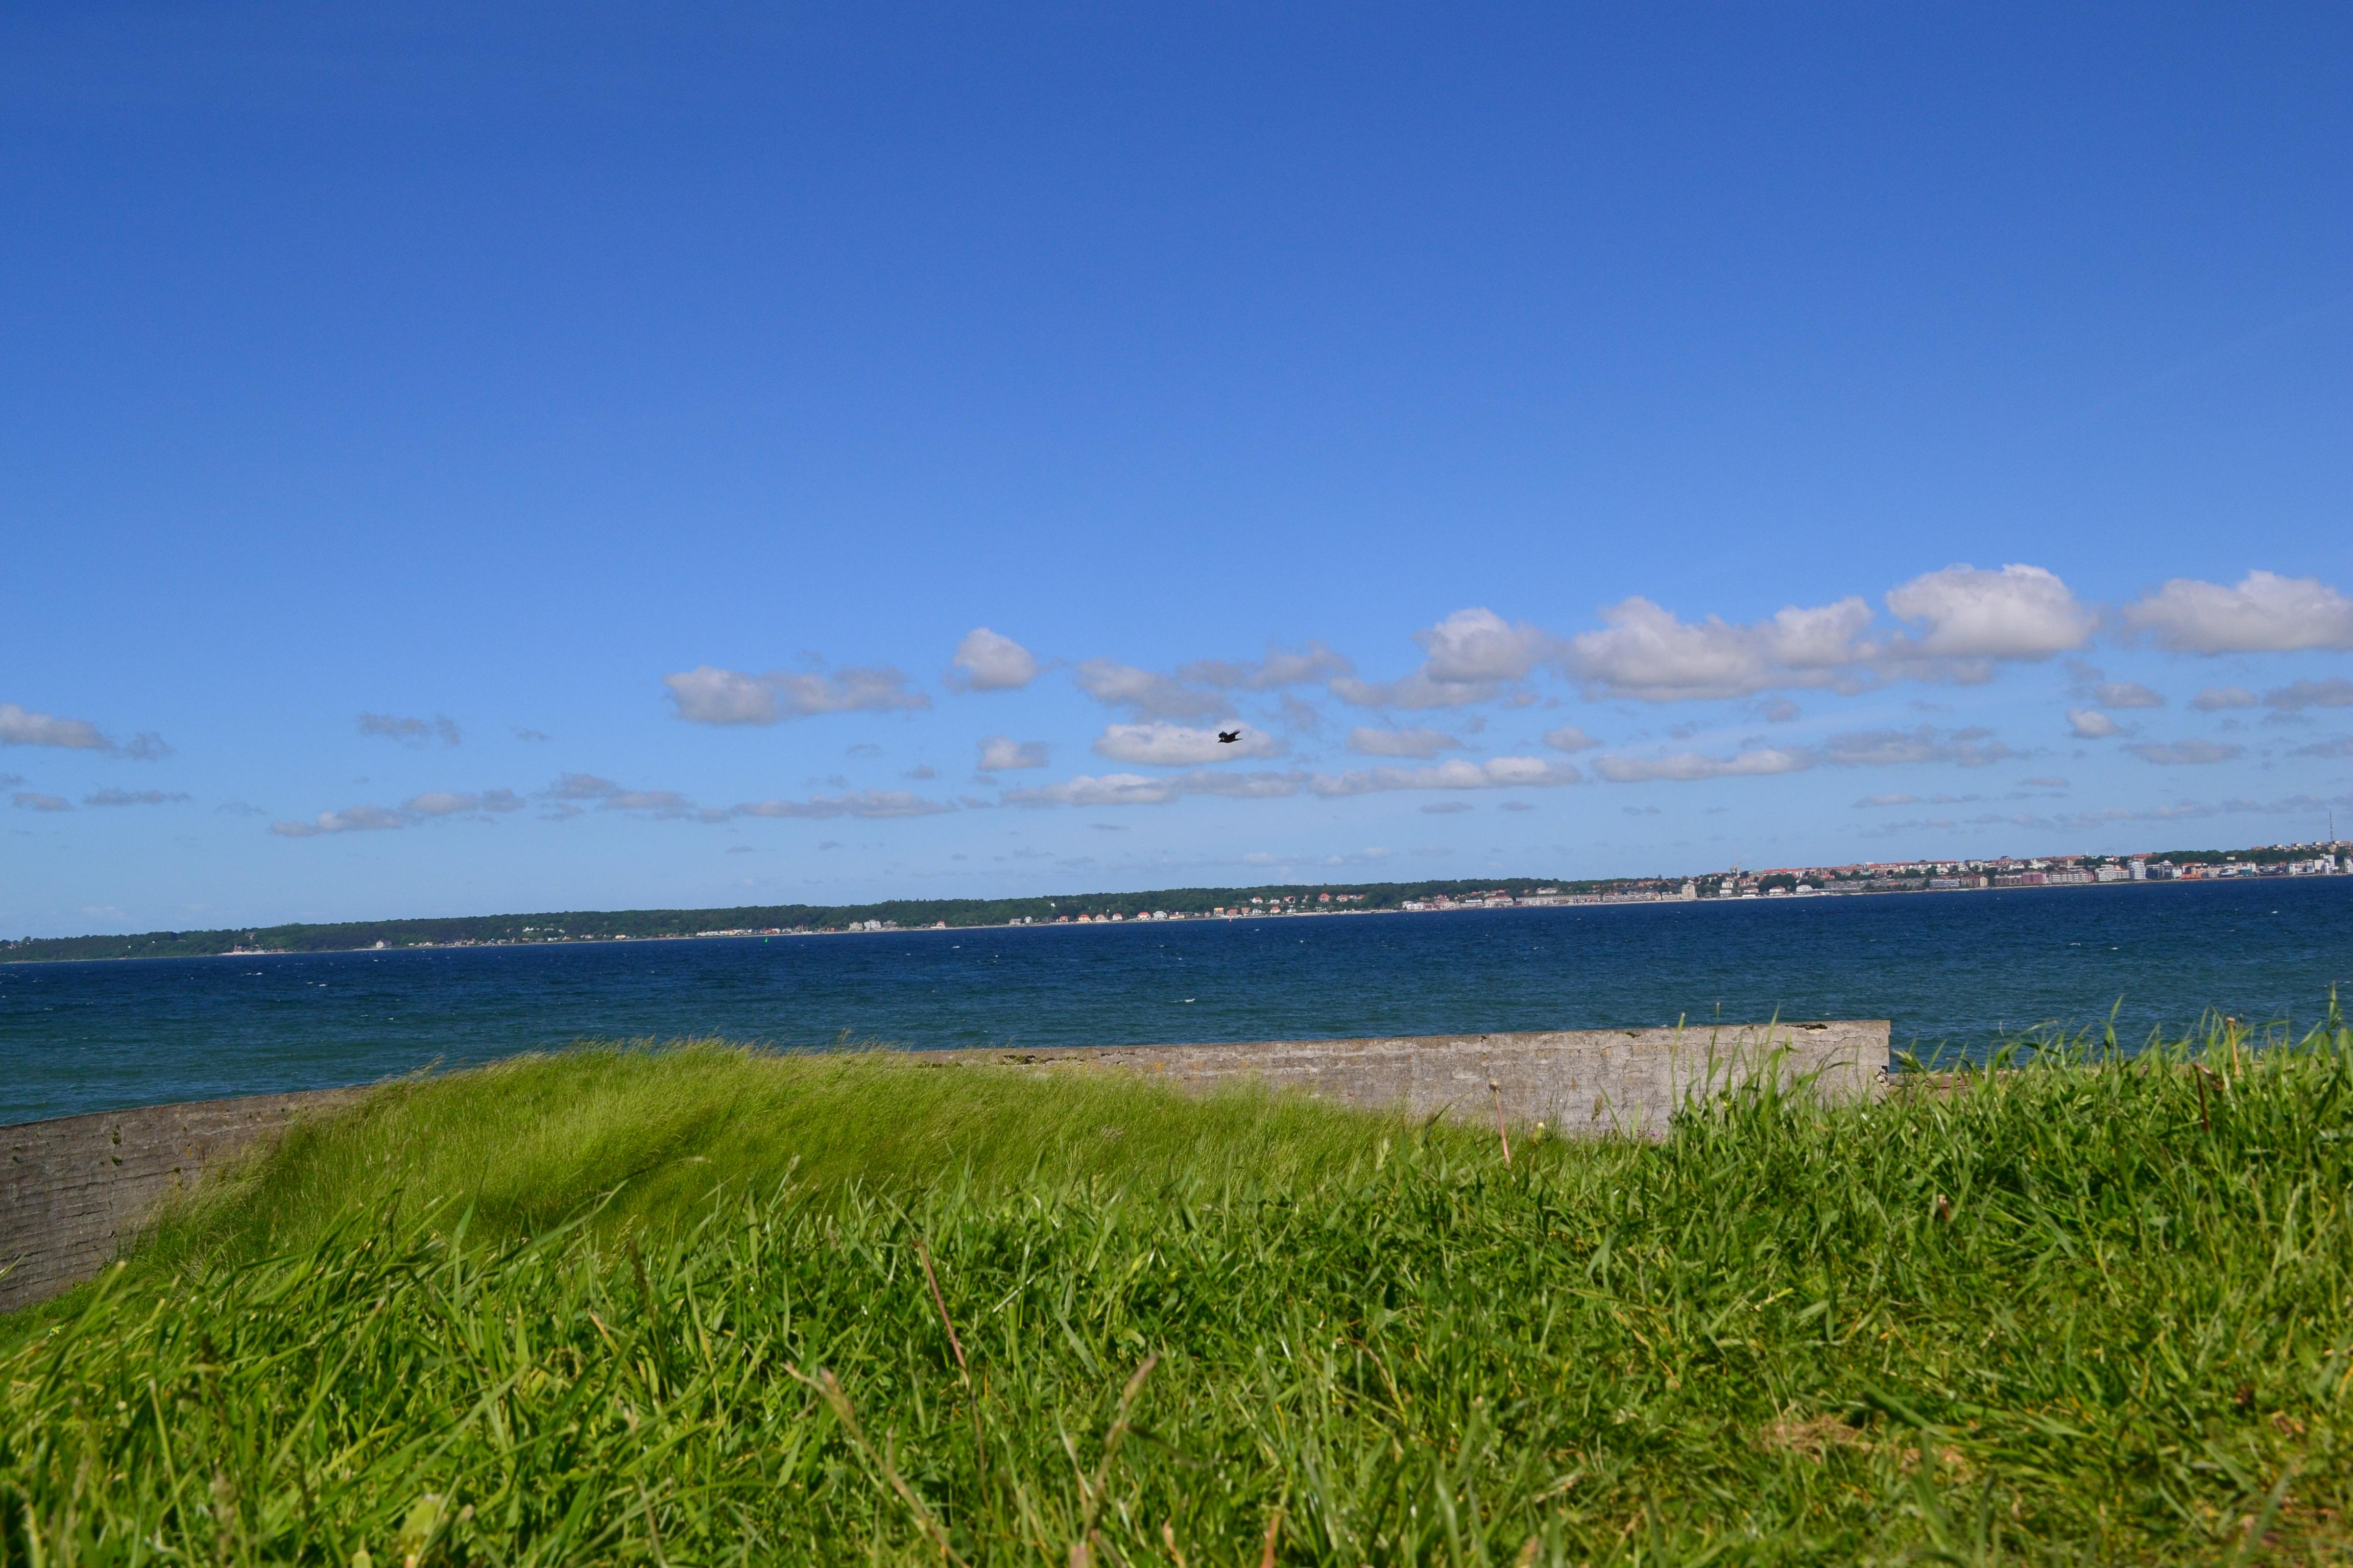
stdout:
<svg viewBox="0 0 2353 1568">
<path fill-rule="evenodd" d="M 2115 1009 L 2134 1044 L 2207 1009 L 2311 1025 L 2348 980 L 2353 877 L 7 964 L 0 1124 L 689 1034 L 1085 1046 L 1779 1013 L 1979 1051 Z"/>
</svg>

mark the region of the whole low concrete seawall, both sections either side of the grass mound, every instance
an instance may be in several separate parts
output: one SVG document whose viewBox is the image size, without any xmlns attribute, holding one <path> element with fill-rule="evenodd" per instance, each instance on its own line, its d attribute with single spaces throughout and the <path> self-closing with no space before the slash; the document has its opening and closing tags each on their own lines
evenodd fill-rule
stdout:
<svg viewBox="0 0 2353 1568">
<path fill-rule="evenodd" d="M 1765 1065 L 1826 1100 L 1878 1093 L 1887 1020 L 1275 1039 L 1233 1046 L 1054 1046 L 913 1051 L 936 1070 L 1139 1074 L 1186 1091 L 1259 1081 L 1362 1110 L 1449 1114 L 1567 1138 L 1659 1138 L 1692 1093 L 1751 1081 Z M 198 1100 L 0 1128 L 0 1312 L 56 1295 L 99 1269 L 207 1171 L 329 1114 L 365 1088 Z"/>
</svg>

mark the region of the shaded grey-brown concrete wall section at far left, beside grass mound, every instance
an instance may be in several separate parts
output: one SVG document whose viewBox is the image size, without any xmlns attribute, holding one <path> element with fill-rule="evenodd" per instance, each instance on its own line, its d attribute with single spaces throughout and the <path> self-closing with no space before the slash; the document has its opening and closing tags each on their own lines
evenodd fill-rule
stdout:
<svg viewBox="0 0 2353 1568">
<path fill-rule="evenodd" d="M 0 1128 L 0 1312 L 89 1279 L 205 1171 L 362 1093 L 144 1105 Z"/>
</svg>

